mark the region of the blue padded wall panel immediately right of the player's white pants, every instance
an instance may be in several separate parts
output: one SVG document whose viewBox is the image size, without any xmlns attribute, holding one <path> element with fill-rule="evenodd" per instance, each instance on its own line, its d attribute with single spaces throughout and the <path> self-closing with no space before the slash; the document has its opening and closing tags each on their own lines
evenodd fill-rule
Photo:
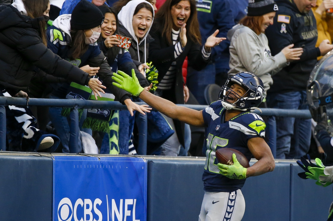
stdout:
<svg viewBox="0 0 333 221">
<path fill-rule="evenodd" d="M 252 165 L 251 165 L 252 166 Z M 242 188 L 243 221 L 289 220 L 290 164 L 278 163 L 273 172 L 250 177 Z"/>
</svg>

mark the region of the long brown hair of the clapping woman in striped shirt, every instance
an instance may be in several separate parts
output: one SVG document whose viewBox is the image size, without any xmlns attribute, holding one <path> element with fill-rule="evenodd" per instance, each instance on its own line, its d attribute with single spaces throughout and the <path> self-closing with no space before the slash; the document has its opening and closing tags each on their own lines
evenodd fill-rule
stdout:
<svg viewBox="0 0 333 221">
<path fill-rule="evenodd" d="M 172 45 L 171 33 L 173 20 L 171 16 L 171 7 L 178 4 L 182 0 L 166 0 L 166 2 L 157 11 L 155 18 L 163 22 L 162 37 L 166 35 L 167 42 Z M 190 4 L 191 14 L 186 22 L 186 33 L 189 38 L 198 44 L 201 44 L 201 35 L 199 30 L 199 22 L 196 12 L 195 0 L 187 0 Z"/>
</svg>

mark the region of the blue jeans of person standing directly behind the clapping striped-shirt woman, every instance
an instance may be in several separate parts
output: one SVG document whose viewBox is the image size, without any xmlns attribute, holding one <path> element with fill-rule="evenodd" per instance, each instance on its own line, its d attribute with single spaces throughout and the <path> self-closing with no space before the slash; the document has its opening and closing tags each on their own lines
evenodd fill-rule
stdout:
<svg viewBox="0 0 333 221">
<path fill-rule="evenodd" d="M 201 71 L 187 68 L 186 85 L 200 105 L 207 105 L 204 90 L 208 84 L 215 83 L 215 64 L 208 64 Z M 216 98 L 217 100 L 217 98 Z"/>
</svg>

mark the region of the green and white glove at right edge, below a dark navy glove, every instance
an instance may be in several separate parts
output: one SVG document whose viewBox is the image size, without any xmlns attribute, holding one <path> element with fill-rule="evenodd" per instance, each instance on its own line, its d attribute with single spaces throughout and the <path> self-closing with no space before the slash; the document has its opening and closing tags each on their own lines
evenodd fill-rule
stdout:
<svg viewBox="0 0 333 221">
<path fill-rule="evenodd" d="M 315 161 L 318 167 L 309 166 L 309 173 L 305 173 L 306 178 L 317 180 L 316 184 L 324 187 L 332 184 L 333 174 L 329 174 L 331 167 L 324 167 L 319 158 L 316 158 Z"/>
</svg>

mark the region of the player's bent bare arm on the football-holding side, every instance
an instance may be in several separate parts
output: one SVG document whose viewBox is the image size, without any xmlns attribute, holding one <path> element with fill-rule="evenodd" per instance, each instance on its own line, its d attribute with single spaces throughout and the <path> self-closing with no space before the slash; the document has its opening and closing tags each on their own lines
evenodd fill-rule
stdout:
<svg viewBox="0 0 333 221">
<path fill-rule="evenodd" d="M 275 168 L 275 161 L 272 152 L 261 137 L 250 138 L 247 146 L 254 158 L 258 161 L 251 167 L 247 168 L 246 177 L 259 176 L 261 174 L 271 172 Z"/>
</svg>

